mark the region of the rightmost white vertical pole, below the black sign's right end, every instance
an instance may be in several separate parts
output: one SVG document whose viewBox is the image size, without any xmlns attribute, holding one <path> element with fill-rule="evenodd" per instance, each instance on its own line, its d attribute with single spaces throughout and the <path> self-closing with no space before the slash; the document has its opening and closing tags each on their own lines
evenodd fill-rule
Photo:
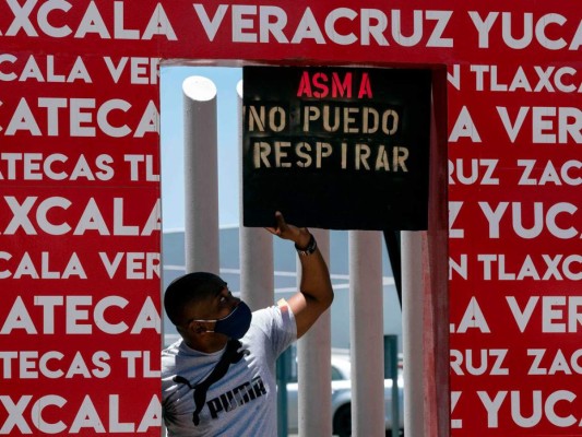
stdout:
<svg viewBox="0 0 582 437">
<path fill-rule="evenodd" d="M 407 437 L 425 437 L 423 234 L 401 235 L 404 429 Z"/>
</svg>

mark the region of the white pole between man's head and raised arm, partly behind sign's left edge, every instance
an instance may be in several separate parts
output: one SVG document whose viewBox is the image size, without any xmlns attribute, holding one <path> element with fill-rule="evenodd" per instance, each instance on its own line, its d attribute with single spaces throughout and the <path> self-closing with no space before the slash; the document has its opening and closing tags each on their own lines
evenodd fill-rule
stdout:
<svg viewBox="0 0 582 437">
<path fill-rule="evenodd" d="M 242 81 L 237 84 L 239 133 L 239 211 L 242 217 Z M 273 211 L 273 222 L 275 211 Z M 254 309 L 274 303 L 273 237 L 263 228 L 239 226 L 240 292 L 241 298 Z"/>
</svg>

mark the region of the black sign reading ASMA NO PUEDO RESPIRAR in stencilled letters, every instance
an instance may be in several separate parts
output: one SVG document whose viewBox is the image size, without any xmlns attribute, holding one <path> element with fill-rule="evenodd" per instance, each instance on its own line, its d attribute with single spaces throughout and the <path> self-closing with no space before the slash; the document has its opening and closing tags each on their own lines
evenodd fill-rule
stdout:
<svg viewBox="0 0 582 437">
<path fill-rule="evenodd" d="M 430 71 L 246 67 L 245 226 L 427 228 Z"/>
</svg>

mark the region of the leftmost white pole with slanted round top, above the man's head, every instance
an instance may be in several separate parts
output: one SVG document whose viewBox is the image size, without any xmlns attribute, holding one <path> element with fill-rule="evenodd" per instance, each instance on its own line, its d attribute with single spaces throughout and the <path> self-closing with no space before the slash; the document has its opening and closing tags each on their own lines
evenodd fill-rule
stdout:
<svg viewBox="0 0 582 437">
<path fill-rule="evenodd" d="M 218 274 L 216 86 L 203 76 L 182 83 L 186 271 Z"/>
</svg>

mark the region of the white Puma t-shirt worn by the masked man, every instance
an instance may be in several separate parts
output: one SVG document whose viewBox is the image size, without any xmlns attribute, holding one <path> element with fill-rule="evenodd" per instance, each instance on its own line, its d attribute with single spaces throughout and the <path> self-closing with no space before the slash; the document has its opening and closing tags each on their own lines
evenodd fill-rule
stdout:
<svg viewBox="0 0 582 437">
<path fill-rule="evenodd" d="M 273 306 L 252 314 L 249 331 L 240 340 L 248 351 L 226 375 L 207 390 L 194 425 L 191 387 L 215 367 L 223 351 L 205 354 L 182 340 L 162 352 L 162 408 L 170 437 L 276 437 L 275 361 L 297 339 L 295 317 L 287 306 Z M 190 386 L 176 382 L 181 376 Z"/>
</svg>

